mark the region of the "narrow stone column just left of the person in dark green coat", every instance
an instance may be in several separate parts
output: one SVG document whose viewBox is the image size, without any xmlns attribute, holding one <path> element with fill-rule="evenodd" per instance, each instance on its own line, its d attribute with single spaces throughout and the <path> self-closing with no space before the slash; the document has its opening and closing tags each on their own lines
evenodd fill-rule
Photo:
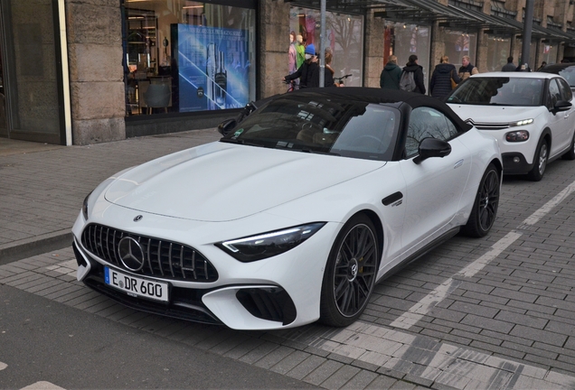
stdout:
<svg viewBox="0 0 575 390">
<path fill-rule="evenodd" d="M 382 18 L 373 17 L 372 10 L 365 15 L 363 87 L 380 87 L 380 76 L 385 66 L 383 63 L 384 37 L 385 21 Z"/>
</svg>

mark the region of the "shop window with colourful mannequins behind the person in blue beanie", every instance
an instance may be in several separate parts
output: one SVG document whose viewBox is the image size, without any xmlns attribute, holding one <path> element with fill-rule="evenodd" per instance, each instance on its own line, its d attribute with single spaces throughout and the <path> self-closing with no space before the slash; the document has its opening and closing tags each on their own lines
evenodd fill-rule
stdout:
<svg viewBox="0 0 575 390">
<path fill-rule="evenodd" d="M 321 14 L 319 10 L 291 7 L 289 12 L 289 29 L 301 35 L 304 45 L 313 43 L 316 51 L 320 50 Z M 286 43 L 288 42 L 286 33 Z M 334 56 L 332 69 L 334 77 L 351 74 L 344 80 L 349 87 L 363 86 L 363 16 L 352 14 L 325 13 L 326 46 Z M 297 43 L 295 43 L 297 44 Z M 319 54 L 319 53 L 318 53 Z M 286 74 L 289 70 L 289 56 L 286 52 Z"/>
</svg>

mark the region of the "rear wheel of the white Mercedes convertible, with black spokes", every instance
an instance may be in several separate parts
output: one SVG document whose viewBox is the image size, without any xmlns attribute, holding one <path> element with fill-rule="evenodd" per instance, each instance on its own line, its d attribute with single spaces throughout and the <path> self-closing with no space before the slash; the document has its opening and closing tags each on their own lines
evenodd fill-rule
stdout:
<svg viewBox="0 0 575 390">
<path fill-rule="evenodd" d="M 491 230 L 497 216 L 501 176 L 494 164 L 489 164 L 477 190 L 471 214 L 462 232 L 469 237 L 485 237 Z"/>
</svg>

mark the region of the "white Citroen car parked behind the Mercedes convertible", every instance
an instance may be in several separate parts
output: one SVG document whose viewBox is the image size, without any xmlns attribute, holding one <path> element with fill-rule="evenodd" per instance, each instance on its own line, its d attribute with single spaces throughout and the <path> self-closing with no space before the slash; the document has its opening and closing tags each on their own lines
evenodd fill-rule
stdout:
<svg viewBox="0 0 575 390">
<path fill-rule="evenodd" d="M 504 173 L 542 180 L 547 163 L 575 160 L 575 107 L 561 76 L 541 72 L 480 73 L 446 99 L 462 119 L 501 147 Z"/>
</svg>

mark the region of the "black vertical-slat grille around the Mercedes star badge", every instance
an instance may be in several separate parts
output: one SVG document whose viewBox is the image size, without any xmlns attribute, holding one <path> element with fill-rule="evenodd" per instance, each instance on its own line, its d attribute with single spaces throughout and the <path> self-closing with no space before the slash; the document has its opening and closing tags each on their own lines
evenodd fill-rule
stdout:
<svg viewBox="0 0 575 390">
<path fill-rule="evenodd" d="M 139 271 L 127 268 L 119 258 L 118 243 L 124 237 L 132 237 L 142 247 L 144 265 Z M 218 280 L 212 263 L 192 246 L 94 224 L 88 225 L 82 232 L 82 246 L 92 255 L 133 274 L 205 283 Z"/>
</svg>

